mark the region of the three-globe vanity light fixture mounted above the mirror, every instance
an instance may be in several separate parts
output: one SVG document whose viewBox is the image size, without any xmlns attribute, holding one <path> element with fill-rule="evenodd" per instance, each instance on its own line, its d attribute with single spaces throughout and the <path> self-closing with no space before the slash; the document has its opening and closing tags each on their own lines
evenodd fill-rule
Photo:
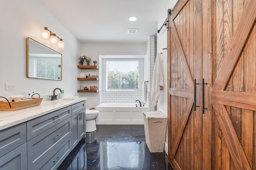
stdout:
<svg viewBox="0 0 256 170">
<path fill-rule="evenodd" d="M 42 36 L 43 39 L 48 39 L 50 40 L 51 43 L 55 44 L 57 43 L 58 47 L 60 49 L 64 49 L 64 42 L 63 40 L 58 37 L 55 33 L 53 33 L 52 31 L 50 31 L 47 27 L 44 27 L 43 31 L 42 31 Z"/>
</svg>

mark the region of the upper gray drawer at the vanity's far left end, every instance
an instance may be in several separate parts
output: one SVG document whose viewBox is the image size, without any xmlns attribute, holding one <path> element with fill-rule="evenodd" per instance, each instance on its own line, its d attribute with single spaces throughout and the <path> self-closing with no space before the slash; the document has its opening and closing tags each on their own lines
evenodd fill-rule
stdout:
<svg viewBox="0 0 256 170">
<path fill-rule="evenodd" d="M 26 123 L 0 131 L 0 157 L 26 141 Z"/>
</svg>

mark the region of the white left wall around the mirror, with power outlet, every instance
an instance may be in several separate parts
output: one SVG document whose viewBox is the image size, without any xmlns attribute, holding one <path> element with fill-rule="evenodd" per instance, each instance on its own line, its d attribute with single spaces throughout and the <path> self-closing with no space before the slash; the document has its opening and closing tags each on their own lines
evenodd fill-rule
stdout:
<svg viewBox="0 0 256 170">
<path fill-rule="evenodd" d="M 41 39 L 48 27 L 63 39 L 63 50 Z M 41 80 L 26 77 L 26 38 L 30 37 L 62 53 L 62 80 Z M 76 68 L 81 44 L 37 0 L 1 0 L 0 5 L 0 96 L 52 94 L 62 88 L 65 96 L 77 96 L 79 86 Z M 5 83 L 15 83 L 16 90 L 5 90 Z M 57 92 L 57 91 L 56 91 Z M 59 92 L 58 92 L 59 93 Z"/>
</svg>

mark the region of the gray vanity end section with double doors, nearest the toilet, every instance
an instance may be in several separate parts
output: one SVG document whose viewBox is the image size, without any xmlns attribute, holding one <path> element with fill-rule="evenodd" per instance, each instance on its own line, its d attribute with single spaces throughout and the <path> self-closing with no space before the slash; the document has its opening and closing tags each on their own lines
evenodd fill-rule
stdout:
<svg viewBox="0 0 256 170">
<path fill-rule="evenodd" d="M 72 110 L 72 149 L 85 135 L 85 101 L 71 106 Z"/>
</svg>

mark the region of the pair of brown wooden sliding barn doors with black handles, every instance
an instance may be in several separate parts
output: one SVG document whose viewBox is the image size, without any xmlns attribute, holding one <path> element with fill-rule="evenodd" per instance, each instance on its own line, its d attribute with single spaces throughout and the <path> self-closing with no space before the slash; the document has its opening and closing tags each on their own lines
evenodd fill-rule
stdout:
<svg viewBox="0 0 256 170">
<path fill-rule="evenodd" d="M 174 8 L 168 31 L 174 169 L 256 169 L 255 22 L 256 0 L 180 0 Z"/>
</svg>

